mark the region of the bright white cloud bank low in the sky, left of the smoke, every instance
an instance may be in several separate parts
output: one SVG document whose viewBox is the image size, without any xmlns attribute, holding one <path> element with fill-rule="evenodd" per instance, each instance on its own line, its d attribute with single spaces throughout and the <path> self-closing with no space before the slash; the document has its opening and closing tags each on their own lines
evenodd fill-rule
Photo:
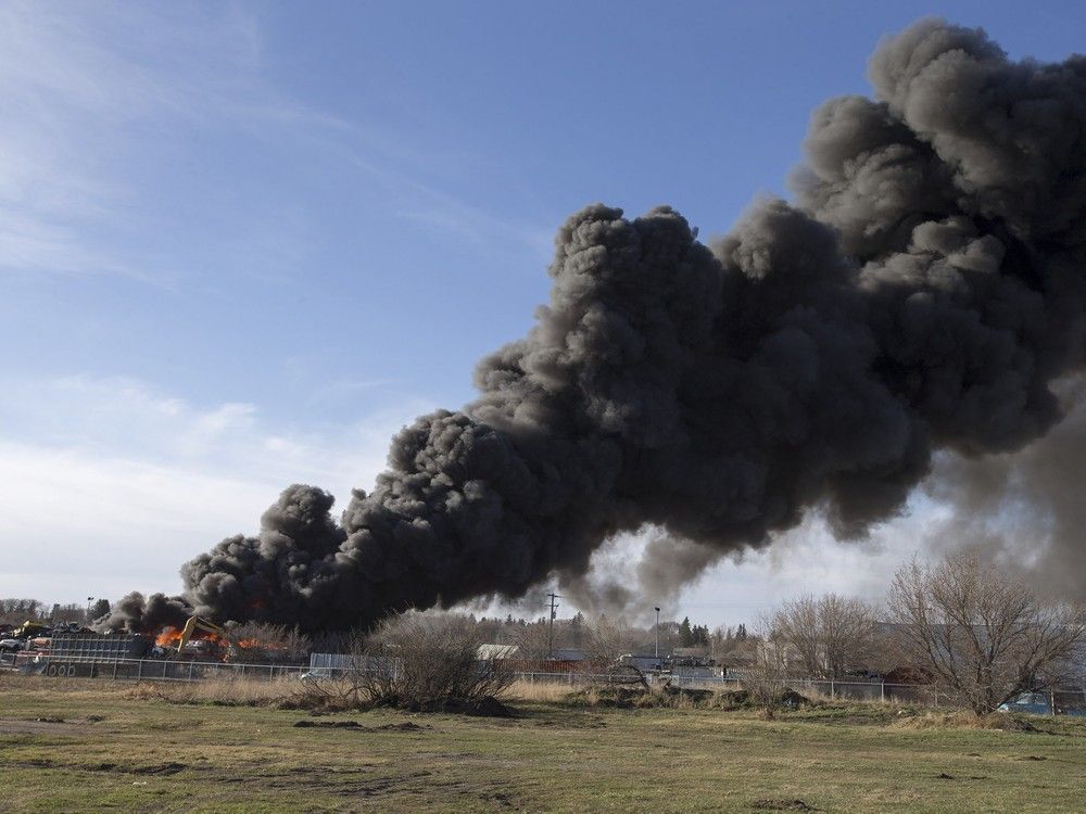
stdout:
<svg viewBox="0 0 1086 814">
<path fill-rule="evenodd" d="M 0 595 L 59 601 L 178 589 L 181 562 L 254 532 L 290 483 L 327 488 L 342 508 L 351 487 L 371 486 L 392 434 L 431 406 L 407 399 L 318 433 L 135 379 L 0 389 Z"/>
</svg>

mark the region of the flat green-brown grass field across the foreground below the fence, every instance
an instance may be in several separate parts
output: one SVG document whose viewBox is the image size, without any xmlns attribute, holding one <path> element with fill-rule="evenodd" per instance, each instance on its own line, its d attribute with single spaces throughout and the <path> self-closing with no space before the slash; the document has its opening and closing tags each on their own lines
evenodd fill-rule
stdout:
<svg viewBox="0 0 1086 814">
<path fill-rule="evenodd" d="M 1086 809 L 1086 723 L 1076 721 L 1015 732 L 877 704 L 763 721 L 753 711 L 546 700 L 515 702 L 513 718 L 312 716 L 163 692 L 0 679 L 0 811 Z M 329 725 L 343 722 L 355 725 Z"/>
</svg>

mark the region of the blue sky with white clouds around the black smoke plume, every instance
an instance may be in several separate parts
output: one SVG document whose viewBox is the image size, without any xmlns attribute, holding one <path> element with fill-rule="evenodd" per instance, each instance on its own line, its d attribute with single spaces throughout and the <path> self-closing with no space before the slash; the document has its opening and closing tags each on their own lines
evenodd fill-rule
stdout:
<svg viewBox="0 0 1086 814">
<path fill-rule="evenodd" d="M 1086 48 L 1077 3 L 886 5 L 0 4 L 0 595 L 176 590 L 286 484 L 368 487 L 531 325 L 569 213 L 723 233 L 912 20 Z M 929 522 L 806 527 L 674 609 L 875 595 Z"/>
</svg>

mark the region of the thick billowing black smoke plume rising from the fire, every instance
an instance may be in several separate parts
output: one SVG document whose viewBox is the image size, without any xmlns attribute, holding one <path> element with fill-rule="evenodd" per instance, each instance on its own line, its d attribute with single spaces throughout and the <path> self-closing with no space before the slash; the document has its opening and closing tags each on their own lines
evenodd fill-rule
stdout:
<svg viewBox="0 0 1086 814">
<path fill-rule="evenodd" d="M 1083 364 L 1086 60 L 1015 63 L 923 21 L 869 76 L 873 100 L 815 113 L 795 204 L 757 204 L 711 251 L 669 207 L 573 215 L 550 304 L 480 363 L 477 402 L 404 429 L 340 524 L 327 494 L 287 489 L 256 537 L 185 567 L 185 599 L 369 624 L 576 581 L 649 524 L 690 542 L 692 570 L 657 572 L 686 578 L 811 511 L 862 535 L 935 450 L 1046 433 L 1051 382 Z"/>
</svg>

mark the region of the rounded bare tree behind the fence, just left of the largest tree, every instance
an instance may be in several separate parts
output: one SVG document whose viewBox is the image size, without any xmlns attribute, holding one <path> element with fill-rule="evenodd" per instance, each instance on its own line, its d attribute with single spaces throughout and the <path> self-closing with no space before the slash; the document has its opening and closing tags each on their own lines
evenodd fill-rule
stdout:
<svg viewBox="0 0 1086 814">
<path fill-rule="evenodd" d="M 810 678 L 844 678 L 849 670 L 866 666 L 874 649 L 874 611 L 837 594 L 808 594 L 785 602 L 769 624 Z"/>
</svg>

